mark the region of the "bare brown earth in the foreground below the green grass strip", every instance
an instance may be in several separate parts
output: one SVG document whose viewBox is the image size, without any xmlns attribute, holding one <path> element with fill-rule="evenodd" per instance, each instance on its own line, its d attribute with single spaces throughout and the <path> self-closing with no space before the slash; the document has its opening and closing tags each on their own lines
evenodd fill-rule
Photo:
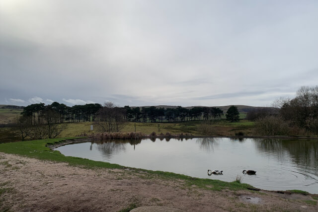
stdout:
<svg viewBox="0 0 318 212">
<path fill-rule="evenodd" d="M 132 203 L 198 212 L 318 211 L 313 204 L 317 201 L 309 195 L 210 191 L 142 171 L 82 169 L 0 152 L 0 189 L 5 188 L 0 211 L 116 212 Z M 249 203 L 253 200 L 258 204 Z"/>
</svg>

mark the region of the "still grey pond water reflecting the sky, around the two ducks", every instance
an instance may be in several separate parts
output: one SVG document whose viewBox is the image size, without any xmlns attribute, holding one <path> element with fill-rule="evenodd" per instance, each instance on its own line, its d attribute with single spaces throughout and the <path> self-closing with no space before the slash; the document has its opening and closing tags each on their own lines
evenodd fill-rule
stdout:
<svg viewBox="0 0 318 212">
<path fill-rule="evenodd" d="M 273 139 L 145 139 L 84 142 L 56 148 L 66 156 L 192 177 L 234 181 L 267 190 L 299 189 L 318 194 L 318 141 Z M 208 176 L 208 169 L 223 175 Z M 243 170 L 256 175 L 244 175 Z"/>
</svg>

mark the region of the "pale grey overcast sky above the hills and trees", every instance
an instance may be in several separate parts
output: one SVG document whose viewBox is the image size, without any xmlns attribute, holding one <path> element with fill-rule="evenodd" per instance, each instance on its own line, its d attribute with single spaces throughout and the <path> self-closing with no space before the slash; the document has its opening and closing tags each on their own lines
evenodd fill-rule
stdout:
<svg viewBox="0 0 318 212">
<path fill-rule="evenodd" d="M 0 0 L 0 104 L 268 106 L 318 85 L 317 0 Z"/>
</svg>

